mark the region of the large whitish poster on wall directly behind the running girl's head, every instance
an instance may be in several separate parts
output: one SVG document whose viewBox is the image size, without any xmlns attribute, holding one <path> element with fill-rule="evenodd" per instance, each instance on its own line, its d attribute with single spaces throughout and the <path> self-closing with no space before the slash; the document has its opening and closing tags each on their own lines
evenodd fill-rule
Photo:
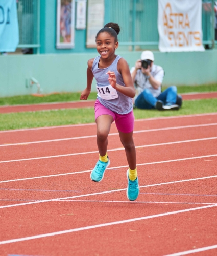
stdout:
<svg viewBox="0 0 217 256">
<path fill-rule="evenodd" d="M 96 48 L 95 36 L 104 27 L 104 0 L 88 0 L 87 48 Z"/>
</svg>

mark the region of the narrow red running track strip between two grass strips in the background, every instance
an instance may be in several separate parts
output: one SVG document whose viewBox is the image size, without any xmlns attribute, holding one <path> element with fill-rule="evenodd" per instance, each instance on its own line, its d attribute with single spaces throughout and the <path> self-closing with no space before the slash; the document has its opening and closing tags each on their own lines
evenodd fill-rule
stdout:
<svg viewBox="0 0 217 256">
<path fill-rule="evenodd" d="M 183 100 L 217 98 L 217 92 L 182 94 L 182 98 Z M 55 103 L 41 103 L 41 104 L 32 104 L 32 105 L 0 106 L 0 113 L 91 108 L 94 106 L 94 102 L 95 100 L 84 100 L 84 101 L 60 102 L 60 103 L 55 102 Z"/>
</svg>

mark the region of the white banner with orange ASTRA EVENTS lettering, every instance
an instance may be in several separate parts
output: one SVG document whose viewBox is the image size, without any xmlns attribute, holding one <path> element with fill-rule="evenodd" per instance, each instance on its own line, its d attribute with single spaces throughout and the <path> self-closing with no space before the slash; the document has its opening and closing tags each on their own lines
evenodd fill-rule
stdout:
<svg viewBox="0 0 217 256">
<path fill-rule="evenodd" d="M 205 51 L 202 0 L 158 0 L 159 50 Z"/>
</svg>

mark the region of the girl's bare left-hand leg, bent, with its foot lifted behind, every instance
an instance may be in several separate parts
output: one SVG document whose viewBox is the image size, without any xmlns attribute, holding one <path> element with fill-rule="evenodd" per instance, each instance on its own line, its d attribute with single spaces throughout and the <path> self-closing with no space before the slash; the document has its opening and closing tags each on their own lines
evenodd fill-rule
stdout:
<svg viewBox="0 0 217 256">
<path fill-rule="evenodd" d="M 113 122 L 113 116 L 101 115 L 95 120 L 97 123 L 97 146 L 100 156 L 105 156 L 108 146 L 108 134 Z"/>
</svg>

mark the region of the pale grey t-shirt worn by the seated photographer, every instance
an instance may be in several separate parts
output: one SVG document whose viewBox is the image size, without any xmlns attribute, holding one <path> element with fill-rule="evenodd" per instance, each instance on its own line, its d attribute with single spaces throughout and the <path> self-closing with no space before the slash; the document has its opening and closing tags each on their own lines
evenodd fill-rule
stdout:
<svg viewBox="0 0 217 256">
<path fill-rule="evenodd" d="M 131 69 L 131 73 L 134 70 L 135 70 L 135 67 Z M 154 77 L 154 79 L 162 83 L 163 77 L 164 77 L 164 70 L 162 67 L 153 64 L 151 75 Z M 135 76 L 135 88 L 136 88 L 136 96 L 134 100 L 138 97 L 140 93 L 144 91 L 144 89 L 149 89 L 155 98 L 158 97 L 161 93 L 161 86 L 158 89 L 154 89 L 150 84 L 147 76 L 142 73 L 141 69 L 137 70 L 137 73 Z"/>
</svg>

